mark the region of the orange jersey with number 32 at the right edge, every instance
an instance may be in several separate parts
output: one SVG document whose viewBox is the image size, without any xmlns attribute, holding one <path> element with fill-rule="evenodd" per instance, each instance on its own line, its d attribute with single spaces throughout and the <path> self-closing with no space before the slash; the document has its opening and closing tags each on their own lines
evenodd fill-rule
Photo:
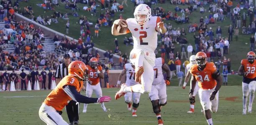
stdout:
<svg viewBox="0 0 256 125">
<path fill-rule="evenodd" d="M 256 73 L 255 73 L 256 61 L 254 61 L 253 64 L 251 64 L 247 59 L 243 59 L 241 61 L 241 65 L 244 66 L 243 71 L 248 72 L 248 75 L 246 75 L 245 77 L 249 79 L 253 79 L 256 77 Z"/>
</svg>

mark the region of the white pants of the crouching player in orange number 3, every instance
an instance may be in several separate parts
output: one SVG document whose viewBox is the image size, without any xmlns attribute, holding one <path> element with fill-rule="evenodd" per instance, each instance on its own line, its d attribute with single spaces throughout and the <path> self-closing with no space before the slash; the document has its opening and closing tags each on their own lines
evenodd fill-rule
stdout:
<svg viewBox="0 0 256 125">
<path fill-rule="evenodd" d="M 41 105 L 38 114 L 47 125 L 69 125 L 53 107 L 44 103 Z"/>
</svg>

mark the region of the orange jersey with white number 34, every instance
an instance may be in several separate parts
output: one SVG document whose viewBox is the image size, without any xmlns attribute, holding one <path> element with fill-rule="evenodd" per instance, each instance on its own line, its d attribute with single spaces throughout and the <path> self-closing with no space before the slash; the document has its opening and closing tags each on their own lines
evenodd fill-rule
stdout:
<svg viewBox="0 0 256 125">
<path fill-rule="evenodd" d="M 206 62 L 205 69 L 199 71 L 198 65 L 192 65 L 190 73 L 195 76 L 199 87 L 204 90 L 212 89 L 217 85 L 216 80 L 212 77 L 212 73 L 217 70 L 216 66 L 210 62 Z"/>
</svg>

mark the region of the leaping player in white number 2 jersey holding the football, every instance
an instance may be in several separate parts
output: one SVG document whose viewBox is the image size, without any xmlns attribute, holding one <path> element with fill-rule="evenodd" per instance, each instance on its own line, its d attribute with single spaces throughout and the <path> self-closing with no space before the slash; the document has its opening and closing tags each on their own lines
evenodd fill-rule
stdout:
<svg viewBox="0 0 256 125">
<path fill-rule="evenodd" d="M 127 92 L 149 93 L 154 80 L 153 67 L 156 59 L 154 50 L 157 46 L 157 33 L 166 32 L 164 22 L 161 22 L 160 17 L 151 16 L 151 9 L 148 5 L 140 4 L 134 11 L 134 18 L 115 20 L 113 24 L 113 35 L 123 35 L 131 32 L 133 36 L 134 45 L 130 53 L 130 60 L 135 65 L 135 80 L 141 83 L 129 87 L 122 84 L 115 95 L 115 99 L 119 99 Z M 119 33 L 117 30 L 118 25 L 128 27 L 128 30 L 124 33 Z"/>
</svg>

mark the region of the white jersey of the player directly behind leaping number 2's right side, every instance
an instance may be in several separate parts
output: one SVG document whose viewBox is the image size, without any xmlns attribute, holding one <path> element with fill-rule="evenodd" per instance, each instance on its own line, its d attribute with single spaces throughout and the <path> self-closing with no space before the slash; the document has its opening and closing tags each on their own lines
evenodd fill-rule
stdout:
<svg viewBox="0 0 256 125">
<path fill-rule="evenodd" d="M 164 59 L 159 57 L 155 60 L 155 66 L 154 66 L 154 81 L 152 85 L 157 85 L 162 82 L 164 82 L 164 75 L 162 66 L 164 65 Z"/>
</svg>

